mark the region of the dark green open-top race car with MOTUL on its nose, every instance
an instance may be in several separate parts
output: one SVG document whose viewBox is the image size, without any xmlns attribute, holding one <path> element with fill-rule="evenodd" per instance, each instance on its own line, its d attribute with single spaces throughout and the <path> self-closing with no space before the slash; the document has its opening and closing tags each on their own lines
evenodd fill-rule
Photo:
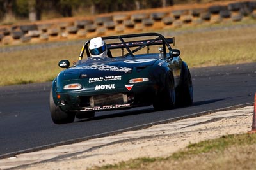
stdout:
<svg viewBox="0 0 256 170">
<path fill-rule="evenodd" d="M 84 43 L 78 62 L 52 81 L 50 111 L 56 124 L 74 118 L 94 117 L 95 111 L 153 105 L 156 110 L 193 103 L 191 75 L 175 38 L 158 33 L 102 37 L 108 57 L 90 57 L 90 40 Z M 86 53 L 86 57 L 83 55 Z M 85 58 L 85 59 L 84 59 Z"/>
</svg>

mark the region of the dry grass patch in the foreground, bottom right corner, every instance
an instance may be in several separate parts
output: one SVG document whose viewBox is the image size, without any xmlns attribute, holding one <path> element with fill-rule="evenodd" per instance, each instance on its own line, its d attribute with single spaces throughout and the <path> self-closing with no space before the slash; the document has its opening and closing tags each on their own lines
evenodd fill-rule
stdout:
<svg viewBox="0 0 256 170">
<path fill-rule="evenodd" d="M 256 134 L 222 136 L 187 146 L 170 157 L 140 158 L 93 169 L 255 169 Z"/>
</svg>

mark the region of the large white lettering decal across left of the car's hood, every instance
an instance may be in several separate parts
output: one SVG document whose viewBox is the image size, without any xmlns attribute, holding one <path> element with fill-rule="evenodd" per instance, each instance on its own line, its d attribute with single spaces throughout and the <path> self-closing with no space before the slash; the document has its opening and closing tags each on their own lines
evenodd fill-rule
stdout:
<svg viewBox="0 0 256 170">
<path fill-rule="evenodd" d="M 93 64 L 92 66 L 74 67 L 70 69 L 97 69 L 99 71 L 118 71 L 124 73 L 132 70 L 132 68 L 109 66 L 107 64 Z"/>
</svg>

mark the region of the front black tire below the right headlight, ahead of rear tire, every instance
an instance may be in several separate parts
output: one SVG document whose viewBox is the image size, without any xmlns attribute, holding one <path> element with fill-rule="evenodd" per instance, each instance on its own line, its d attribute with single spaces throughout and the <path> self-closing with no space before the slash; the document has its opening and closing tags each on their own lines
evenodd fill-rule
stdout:
<svg viewBox="0 0 256 170">
<path fill-rule="evenodd" d="M 176 96 L 172 73 L 166 74 L 164 89 L 159 92 L 153 106 L 155 110 L 166 110 L 175 106 Z"/>
</svg>

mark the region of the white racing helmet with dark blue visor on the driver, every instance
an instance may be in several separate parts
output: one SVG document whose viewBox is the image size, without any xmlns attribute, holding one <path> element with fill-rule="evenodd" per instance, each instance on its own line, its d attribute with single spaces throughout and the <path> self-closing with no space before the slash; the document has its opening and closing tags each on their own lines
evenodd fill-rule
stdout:
<svg viewBox="0 0 256 170">
<path fill-rule="evenodd" d="M 90 40 L 89 50 L 92 57 L 106 57 L 107 46 L 101 37 L 96 37 Z"/>
</svg>

